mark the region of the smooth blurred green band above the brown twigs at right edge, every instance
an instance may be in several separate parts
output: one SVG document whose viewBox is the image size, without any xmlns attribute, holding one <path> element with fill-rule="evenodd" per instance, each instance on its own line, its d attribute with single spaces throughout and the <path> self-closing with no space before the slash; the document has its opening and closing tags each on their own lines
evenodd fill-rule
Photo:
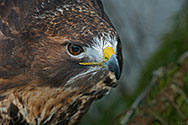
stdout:
<svg viewBox="0 0 188 125">
<path fill-rule="evenodd" d="M 141 73 L 140 88 L 149 83 L 153 70 L 177 61 L 180 55 L 188 50 L 188 2 L 184 6 L 174 17 L 172 31 L 162 38 L 161 47 L 150 58 L 145 70 Z"/>
</svg>

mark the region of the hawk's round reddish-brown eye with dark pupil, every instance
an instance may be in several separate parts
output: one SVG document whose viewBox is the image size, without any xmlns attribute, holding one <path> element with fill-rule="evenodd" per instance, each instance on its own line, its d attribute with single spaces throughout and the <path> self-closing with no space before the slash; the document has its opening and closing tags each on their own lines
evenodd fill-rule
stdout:
<svg viewBox="0 0 188 125">
<path fill-rule="evenodd" d="M 69 44 L 68 45 L 68 51 L 70 54 L 76 56 L 82 53 L 84 50 L 81 46 L 76 45 L 76 44 Z"/>
</svg>

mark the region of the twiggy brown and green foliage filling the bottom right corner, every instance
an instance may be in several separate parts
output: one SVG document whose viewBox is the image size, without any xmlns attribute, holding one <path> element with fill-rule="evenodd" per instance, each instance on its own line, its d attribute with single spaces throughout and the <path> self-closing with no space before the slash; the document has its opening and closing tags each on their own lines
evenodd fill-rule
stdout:
<svg viewBox="0 0 188 125">
<path fill-rule="evenodd" d="M 161 68 L 162 75 L 128 125 L 188 124 L 188 53 L 180 63 Z"/>
</svg>

